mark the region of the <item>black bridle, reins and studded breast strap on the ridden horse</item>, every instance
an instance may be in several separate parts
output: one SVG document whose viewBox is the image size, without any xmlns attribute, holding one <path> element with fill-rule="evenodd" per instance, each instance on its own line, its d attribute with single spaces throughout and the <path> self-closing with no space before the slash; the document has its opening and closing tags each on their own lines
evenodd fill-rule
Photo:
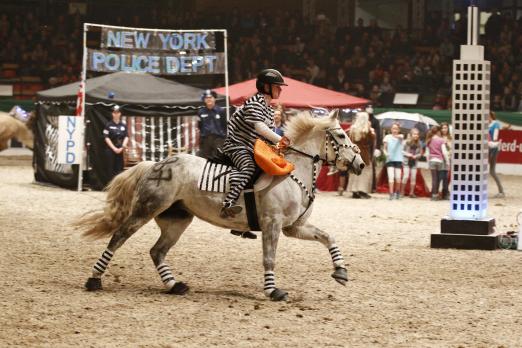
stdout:
<svg viewBox="0 0 522 348">
<path fill-rule="evenodd" d="M 324 163 L 328 164 L 328 165 L 336 165 L 337 161 L 339 160 L 339 150 L 341 148 L 346 148 L 346 149 L 352 149 L 355 153 L 353 155 L 353 158 L 351 161 L 348 162 L 348 164 L 353 168 L 353 164 L 355 162 L 355 158 L 357 157 L 357 155 L 359 153 L 361 153 L 361 150 L 359 149 L 359 147 L 355 144 L 341 144 L 336 138 L 335 136 L 333 135 L 332 131 L 336 131 L 336 130 L 342 130 L 341 127 L 335 127 L 335 128 L 327 128 L 325 130 L 326 132 L 326 135 L 325 135 L 325 157 L 322 158 L 319 154 L 315 154 L 315 155 L 310 155 L 304 151 L 301 151 L 301 150 L 298 150 L 296 149 L 295 147 L 291 147 L 289 146 L 288 149 L 289 150 L 292 150 L 302 156 L 305 156 L 305 157 L 308 157 L 312 160 L 312 189 L 311 190 L 308 190 L 308 188 L 306 187 L 306 185 L 301 181 L 299 180 L 299 178 L 297 178 L 294 174 L 290 174 L 290 178 L 292 180 L 294 180 L 300 187 L 301 189 L 303 189 L 303 191 L 306 193 L 307 197 L 308 197 L 308 206 L 306 207 L 305 211 L 299 215 L 299 217 L 297 218 L 297 220 L 299 220 L 307 211 L 308 209 L 310 208 L 310 206 L 312 205 L 314 199 L 315 199 L 315 191 L 316 191 L 316 179 L 317 179 L 317 167 L 316 167 L 316 164 L 319 162 L 319 161 L 323 161 Z M 332 150 L 334 151 L 335 153 L 335 158 L 333 160 L 329 160 L 328 159 L 328 152 L 329 152 L 329 146 L 331 146 Z"/>
</svg>

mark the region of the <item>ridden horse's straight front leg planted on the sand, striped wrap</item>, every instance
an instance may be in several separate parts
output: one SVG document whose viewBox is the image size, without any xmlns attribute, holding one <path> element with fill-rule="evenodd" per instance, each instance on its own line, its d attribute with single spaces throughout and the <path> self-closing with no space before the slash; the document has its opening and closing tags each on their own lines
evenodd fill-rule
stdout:
<svg viewBox="0 0 522 348">
<path fill-rule="evenodd" d="M 272 220 L 263 228 L 263 267 L 265 268 L 264 293 L 273 301 L 286 301 L 288 293 L 275 286 L 275 255 L 281 233 L 281 222 Z"/>
</svg>

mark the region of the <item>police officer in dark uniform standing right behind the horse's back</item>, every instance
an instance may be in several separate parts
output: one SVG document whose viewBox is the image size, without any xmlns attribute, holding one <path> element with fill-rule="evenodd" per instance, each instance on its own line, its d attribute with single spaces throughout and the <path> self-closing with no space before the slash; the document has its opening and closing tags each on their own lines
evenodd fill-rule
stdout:
<svg viewBox="0 0 522 348">
<path fill-rule="evenodd" d="M 216 105 L 217 94 L 210 89 L 203 92 L 201 99 L 205 106 L 198 110 L 199 152 L 204 158 L 215 157 L 227 136 L 226 113 Z"/>
</svg>

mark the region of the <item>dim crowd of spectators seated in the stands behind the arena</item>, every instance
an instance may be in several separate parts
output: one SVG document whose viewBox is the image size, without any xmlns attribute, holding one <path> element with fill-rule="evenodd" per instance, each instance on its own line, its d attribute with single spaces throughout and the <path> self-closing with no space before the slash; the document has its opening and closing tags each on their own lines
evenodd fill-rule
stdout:
<svg viewBox="0 0 522 348">
<path fill-rule="evenodd" d="M 324 15 L 309 22 L 300 13 L 180 13 L 150 10 L 140 16 L 84 18 L 79 14 L 0 15 L 1 78 L 37 76 L 42 87 L 79 79 L 82 23 L 155 28 L 226 28 L 230 82 L 254 78 L 266 67 L 285 76 L 390 105 L 395 92 L 435 96 L 430 107 L 451 107 L 452 60 L 466 40 L 466 18 L 450 23 L 429 14 L 425 29 L 383 30 L 376 20 L 336 28 Z M 491 108 L 522 111 L 522 20 L 494 13 L 481 38 L 491 65 Z M 14 67 L 14 68 L 13 68 Z M 14 69 L 14 71 L 13 71 Z"/>
</svg>

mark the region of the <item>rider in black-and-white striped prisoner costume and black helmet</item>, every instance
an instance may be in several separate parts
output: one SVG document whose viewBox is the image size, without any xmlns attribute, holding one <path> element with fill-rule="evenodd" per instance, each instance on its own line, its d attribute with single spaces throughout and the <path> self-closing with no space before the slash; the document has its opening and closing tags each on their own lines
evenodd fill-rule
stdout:
<svg viewBox="0 0 522 348">
<path fill-rule="evenodd" d="M 285 149 L 290 144 L 287 137 L 281 137 L 272 130 L 274 109 L 270 102 L 279 98 L 281 86 L 287 84 L 279 71 L 262 70 L 256 80 L 258 92 L 230 117 L 223 152 L 232 160 L 237 172 L 230 176 L 230 189 L 223 201 L 221 217 L 234 217 L 242 210 L 236 205 L 236 201 L 256 169 L 253 155 L 256 139 L 264 138 L 278 144 L 280 149 Z"/>
</svg>

